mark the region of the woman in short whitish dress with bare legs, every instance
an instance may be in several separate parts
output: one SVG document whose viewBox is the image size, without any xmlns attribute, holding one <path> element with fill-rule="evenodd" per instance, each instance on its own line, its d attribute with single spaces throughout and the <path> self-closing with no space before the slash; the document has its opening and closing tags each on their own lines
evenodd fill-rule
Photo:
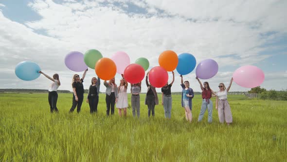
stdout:
<svg viewBox="0 0 287 162">
<path fill-rule="evenodd" d="M 119 112 L 119 116 L 122 117 L 122 109 L 124 110 L 124 116 L 126 117 L 126 108 L 128 107 L 127 103 L 127 82 L 122 74 L 122 79 L 120 81 L 120 85 L 118 86 L 118 100 L 117 100 L 117 108 Z"/>
</svg>

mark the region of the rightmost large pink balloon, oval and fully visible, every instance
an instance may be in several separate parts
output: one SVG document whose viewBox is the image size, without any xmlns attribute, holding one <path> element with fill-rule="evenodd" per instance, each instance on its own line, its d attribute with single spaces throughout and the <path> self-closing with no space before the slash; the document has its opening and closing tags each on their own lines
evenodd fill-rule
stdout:
<svg viewBox="0 0 287 162">
<path fill-rule="evenodd" d="M 264 81 L 264 72 L 256 66 L 239 67 L 233 73 L 233 81 L 246 88 L 254 88 Z"/>
</svg>

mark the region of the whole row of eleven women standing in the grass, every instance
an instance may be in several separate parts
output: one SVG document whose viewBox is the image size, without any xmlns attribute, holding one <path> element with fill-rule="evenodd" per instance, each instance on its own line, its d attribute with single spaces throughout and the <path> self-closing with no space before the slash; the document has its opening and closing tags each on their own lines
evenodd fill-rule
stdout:
<svg viewBox="0 0 287 162">
<path fill-rule="evenodd" d="M 82 78 L 75 74 L 72 79 L 72 89 L 73 89 L 73 98 L 72 98 L 72 107 L 70 112 L 72 113 L 74 109 L 77 107 L 77 112 L 81 111 L 82 102 L 84 100 L 84 86 L 83 82 L 86 76 L 88 69 L 85 70 Z M 54 74 L 53 78 L 49 77 L 47 74 L 40 71 L 39 73 L 43 74 L 45 77 L 53 81 L 49 88 L 48 101 L 50 104 L 51 113 L 58 112 L 56 107 L 57 103 L 57 89 L 60 86 L 59 75 Z M 155 105 L 159 104 L 158 94 L 156 88 L 152 86 L 148 82 L 148 73 L 145 77 L 145 83 L 147 86 L 147 93 L 145 96 L 144 103 L 148 107 L 148 117 L 152 115 L 155 116 Z M 164 108 L 164 116 L 167 119 L 171 118 L 171 109 L 172 109 L 172 97 L 171 97 L 171 86 L 175 80 L 174 72 L 173 79 L 170 84 L 166 83 L 162 88 L 162 96 L 161 96 L 161 104 Z M 119 116 L 122 116 L 122 110 L 124 116 L 126 116 L 126 108 L 128 107 L 127 101 L 127 86 L 124 75 L 122 74 L 122 79 L 120 80 L 120 85 L 117 86 L 115 83 L 115 78 L 112 78 L 109 81 L 104 81 L 104 85 L 106 86 L 106 104 L 107 104 L 107 116 L 109 114 L 114 114 L 114 107 L 118 108 Z M 194 98 L 193 89 L 189 87 L 189 81 L 183 81 L 182 75 L 180 75 L 182 87 L 181 93 L 181 106 L 184 108 L 186 120 L 192 121 L 192 99 Z M 211 101 L 212 97 L 216 97 L 216 110 L 218 110 L 218 118 L 219 122 L 223 123 L 224 121 L 227 124 L 233 122 L 232 113 L 230 109 L 230 105 L 227 101 L 227 93 L 231 87 L 233 78 L 230 81 L 228 88 L 225 87 L 224 83 L 219 83 L 219 91 L 215 93 L 209 86 L 208 82 L 203 82 L 196 78 L 198 83 L 200 84 L 200 88 L 202 90 L 202 105 L 198 117 L 198 122 L 202 121 L 203 115 L 208 110 L 208 122 L 212 122 L 212 110 L 213 110 L 213 102 Z M 140 93 L 141 93 L 141 85 L 142 83 L 131 84 L 131 107 L 133 117 L 140 117 Z M 99 102 L 99 90 L 100 90 L 100 78 L 93 77 L 91 79 L 91 84 L 89 87 L 87 102 L 90 105 L 90 113 L 97 113 L 97 106 Z"/>
</svg>

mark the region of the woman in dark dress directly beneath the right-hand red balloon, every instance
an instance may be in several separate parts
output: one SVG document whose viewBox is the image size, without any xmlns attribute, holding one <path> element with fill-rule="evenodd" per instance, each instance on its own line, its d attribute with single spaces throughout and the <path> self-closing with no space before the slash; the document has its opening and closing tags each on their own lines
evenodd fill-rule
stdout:
<svg viewBox="0 0 287 162">
<path fill-rule="evenodd" d="M 151 115 L 154 117 L 155 116 L 155 105 L 159 104 L 159 98 L 158 98 L 158 94 L 156 91 L 156 87 L 148 83 L 148 73 L 149 72 L 146 73 L 146 77 L 145 77 L 147 92 L 146 92 L 144 103 L 147 105 L 147 108 L 148 108 L 148 112 L 147 112 L 148 117 L 150 117 L 150 112 L 151 112 Z"/>
</svg>

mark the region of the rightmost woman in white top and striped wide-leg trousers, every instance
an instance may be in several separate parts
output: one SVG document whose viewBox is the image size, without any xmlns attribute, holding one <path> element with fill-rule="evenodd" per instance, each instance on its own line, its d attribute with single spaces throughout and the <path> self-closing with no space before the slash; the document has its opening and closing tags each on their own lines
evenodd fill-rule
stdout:
<svg viewBox="0 0 287 162">
<path fill-rule="evenodd" d="M 233 122 L 231 109 L 227 101 L 227 93 L 231 87 L 233 78 L 231 78 L 229 86 L 227 89 L 223 83 L 219 83 L 219 91 L 216 93 L 216 110 L 218 110 L 219 122 L 224 123 L 224 121 L 229 125 Z"/>
</svg>

